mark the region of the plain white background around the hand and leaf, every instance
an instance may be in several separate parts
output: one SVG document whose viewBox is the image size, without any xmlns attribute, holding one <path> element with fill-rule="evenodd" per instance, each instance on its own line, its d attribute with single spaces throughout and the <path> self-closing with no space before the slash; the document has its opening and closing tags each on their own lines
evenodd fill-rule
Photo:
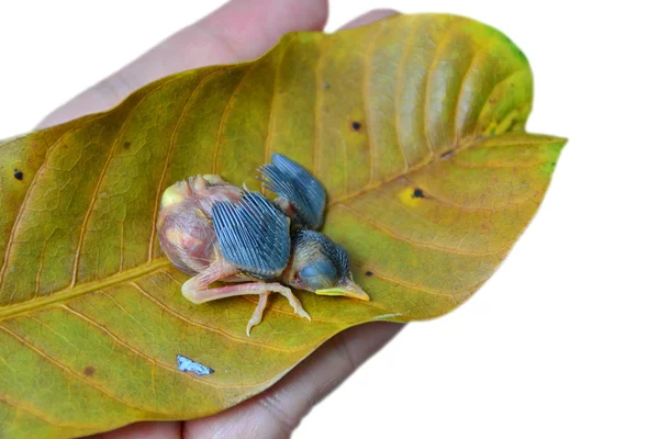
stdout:
<svg viewBox="0 0 659 439">
<path fill-rule="evenodd" d="M 0 1 L 0 138 L 221 3 Z M 495 275 L 409 325 L 297 438 L 659 437 L 657 14 L 589 3 L 333 2 L 330 30 L 382 7 L 502 30 L 535 72 L 528 130 L 570 142 Z"/>
</svg>

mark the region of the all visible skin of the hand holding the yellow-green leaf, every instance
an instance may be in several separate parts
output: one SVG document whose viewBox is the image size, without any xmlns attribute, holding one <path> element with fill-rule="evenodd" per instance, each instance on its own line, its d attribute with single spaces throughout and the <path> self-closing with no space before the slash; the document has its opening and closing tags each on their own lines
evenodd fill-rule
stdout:
<svg viewBox="0 0 659 439">
<path fill-rule="evenodd" d="M 371 11 L 357 27 L 394 14 Z M 160 77 L 260 56 L 292 31 L 321 31 L 327 0 L 233 0 L 49 114 L 46 127 L 108 110 Z M 190 48 L 194 47 L 193 50 Z M 102 438 L 288 438 L 314 405 L 384 346 L 402 325 L 371 323 L 338 334 L 276 385 L 227 410 L 183 423 L 138 423 Z"/>
</svg>

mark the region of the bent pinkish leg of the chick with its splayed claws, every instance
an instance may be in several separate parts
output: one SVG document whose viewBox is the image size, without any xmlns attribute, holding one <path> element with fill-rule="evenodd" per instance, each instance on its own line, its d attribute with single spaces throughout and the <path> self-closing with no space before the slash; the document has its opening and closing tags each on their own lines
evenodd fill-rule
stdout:
<svg viewBox="0 0 659 439">
<path fill-rule="evenodd" d="M 277 282 L 250 282 L 250 283 L 237 283 L 234 285 L 219 286 L 209 289 L 208 286 L 222 279 L 226 279 L 238 272 L 228 264 L 215 263 L 211 264 L 208 269 L 200 272 L 196 277 L 189 279 L 182 286 L 183 296 L 192 303 L 199 304 L 216 299 L 235 297 L 237 295 L 257 294 L 258 305 L 254 309 L 252 318 L 247 323 L 247 335 L 256 325 L 258 325 L 263 318 L 264 311 L 268 304 L 268 296 L 270 293 L 279 293 L 288 299 L 295 314 L 300 317 L 304 317 L 311 320 L 311 316 L 304 311 L 302 304 L 295 297 L 291 289 L 283 286 Z"/>
</svg>

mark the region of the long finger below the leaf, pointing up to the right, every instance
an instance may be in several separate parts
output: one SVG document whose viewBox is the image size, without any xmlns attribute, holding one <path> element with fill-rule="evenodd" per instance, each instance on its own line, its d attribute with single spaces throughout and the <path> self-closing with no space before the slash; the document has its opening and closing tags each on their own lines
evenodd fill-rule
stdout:
<svg viewBox="0 0 659 439">
<path fill-rule="evenodd" d="M 402 327 L 379 322 L 338 334 L 264 393 L 217 415 L 186 423 L 183 437 L 288 438 L 317 402 Z"/>
</svg>

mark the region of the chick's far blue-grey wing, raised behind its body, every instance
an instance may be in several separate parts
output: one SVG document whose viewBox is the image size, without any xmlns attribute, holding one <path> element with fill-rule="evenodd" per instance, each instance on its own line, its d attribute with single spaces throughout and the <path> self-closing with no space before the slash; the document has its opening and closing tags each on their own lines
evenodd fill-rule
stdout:
<svg viewBox="0 0 659 439">
<path fill-rule="evenodd" d="M 305 226 L 320 229 L 323 225 L 326 193 L 321 182 L 293 160 L 272 155 L 272 162 L 258 170 L 266 188 L 288 200 Z"/>
</svg>

